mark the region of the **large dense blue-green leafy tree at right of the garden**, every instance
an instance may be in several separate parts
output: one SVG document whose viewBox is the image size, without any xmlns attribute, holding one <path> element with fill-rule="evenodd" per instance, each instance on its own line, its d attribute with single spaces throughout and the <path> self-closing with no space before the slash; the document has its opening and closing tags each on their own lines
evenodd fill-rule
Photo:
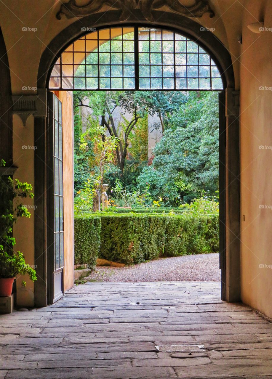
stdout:
<svg viewBox="0 0 272 379">
<path fill-rule="evenodd" d="M 218 96 L 191 92 L 186 104 L 168 117 L 164 136 L 154 148 L 154 160 L 137 178 L 138 188 L 149 183 L 151 196 L 175 206 L 215 194 L 219 187 Z"/>
</svg>

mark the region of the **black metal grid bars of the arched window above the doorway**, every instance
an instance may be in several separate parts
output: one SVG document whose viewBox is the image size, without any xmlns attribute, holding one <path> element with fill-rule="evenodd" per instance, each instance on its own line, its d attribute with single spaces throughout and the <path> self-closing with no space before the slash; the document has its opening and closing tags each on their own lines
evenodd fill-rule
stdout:
<svg viewBox="0 0 272 379">
<path fill-rule="evenodd" d="M 111 44 L 111 41 L 113 41 L 113 39 L 111 39 L 112 35 L 111 35 L 111 32 L 112 32 L 112 29 L 116 29 L 116 28 L 119 28 L 121 29 L 121 45 L 122 45 L 122 51 L 120 51 L 119 53 L 122 54 L 122 62 L 120 64 L 117 64 L 117 65 L 120 65 L 122 66 L 122 77 L 118 77 L 120 79 L 122 79 L 122 88 L 116 88 L 116 87 L 112 87 L 112 79 L 114 77 L 112 77 L 112 44 Z M 134 64 L 124 64 L 124 28 L 134 28 L 134 38 L 133 39 L 125 39 L 126 41 L 134 41 Z M 105 39 L 100 39 L 100 36 L 99 36 L 99 33 L 101 30 L 109 30 L 109 39 L 107 41 L 109 41 L 109 57 L 110 57 L 110 62 L 109 62 L 109 67 L 110 67 L 110 76 L 108 77 L 104 77 L 104 76 L 101 76 L 100 74 L 100 67 L 103 66 L 103 64 L 100 63 L 100 41 L 106 41 Z M 193 41 L 192 39 L 190 39 L 189 37 L 185 36 L 184 34 L 181 34 L 181 33 L 178 33 L 176 31 L 173 31 L 173 30 L 170 30 L 168 28 L 156 28 L 156 30 L 158 31 L 161 31 L 161 38 L 160 39 L 156 39 L 156 41 L 160 41 L 161 42 L 161 63 L 159 64 L 160 67 L 162 67 L 162 75 L 161 77 L 158 77 L 161 79 L 161 82 L 162 82 L 162 88 L 151 88 L 152 85 L 151 85 L 151 79 L 152 79 L 152 75 L 151 75 L 151 66 L 154 66 L 153 64 L 151 64 L 151 27 L 150 25 L 146 27 L 146 31 L 149 32 L 149 38 L 146 39 L 146 41 L 149 42 L 149 52 L 147 54 L 149 54 L 149 63 L 148 64 L 143 64 L 143 63 L 140 63 L 139 62 L 139 32 L 140 32 L 140 26 L 139 25 L 135 25 L 135 26 L 132 26 L 132 25 L 123 25 L 122 27 L 118 27 L 118 26 L 114 26 L 114 27 L 110 27 L 110 28 L 101 28 L 101 29 L 98 29 L 97 31 L 94 31 L 93 33 L 96 33 L 97 34 L 97 37 L 96 38 L 87 38 L 90 33 L 87 33 L 87 34 L 84 34 L 82 37 L 80 37 L 79 39 L 77 39 L 76 41 L 72 42 L 72 44 L 70 44 L 68 47 L 66 47 L 66 49 L 64 49 L 64 51 L 62 53 L 67 53 L 68 52 L 68 48 L 72 45 L 72 51 L 69 50 L 70 53 L 72 53 L 73 55 L 73 59 L 72 59 L 72 63 L 69 63 L 67 65 L 71 65 L 73 67 L 73 76 L 72 77 L 64 77 L 63 76 L 63 72 L 62 72 L 62 66 L 64 65 L 64 63 L 62 62 L 62 53 L 60 55 L 60 76 L 52 76 L 52 78 L 57 78 L 58 80 L 60 80 L 60 87 L 56 88 L 51 88 L 49 86 L 49 89 L 50 90 L 57 90 L 57 91 L 69 91 L 69 90 L 85 90 L 85 91 L 222 91 L 223 88 L 224 88 L 224 85 L 223 85 L 223 80 L 222 80 L 222 77 L 221 75 L 218 76 L 218 77 L 212 77 L 212 66 L 216 66 L 216 63 L 212 64 L 212 57 L 211 55 L 208 53 L 208 52 L 200 52 L 200 48 L 202 49 L 202 47 L 195 41 Z M 173 40 L 165 40 L 165 41 L 173 41 L 173 64 L 164 64 L 163 63 L 163 42 L 164 42 L 164 38 L 163 38 L 163 31 L 171 31 L 173 33 Z M 179 41 L 176 39 L 176 34 L 179 34 L 181 35 L 182 37 L 184 37 L 184 41 L 186 42 L 186 51 L 184 51 L 184 54 L 186 54 L 186 64 L 184 65 L 176 65 L 176 41 Z M 83 53 L 83 51 L 78 51 L 78 50 L 75 50 L 74 49 L 74 44 L 75 42 L 79 41 L 79 40 L 82 40 L 84 41 L 85 43 L 85 63 L 84 66 L 85 66 L 85 77 L 83 76 L 75 76 L 75 70 L 74 70 L 74 67 L 77 66 L 77 64 L 75 64 L 75 61 L 74 61 L 74 54 L 75 53 Z M 92 41 L 97 41 L 97 51 L 95 52 L 97 54 L 97 76 L 96 77 L 90 77 L 90 78 L 96 78 L 97 79 L 97 87 L 96 88 L 87 88 L 87 73 L 86 73 L 86 69 L 87 69 L 87 66 L 89 65 L 88 63 L 86 63 L 87 61 L 87 48 L 86 48 L 86 41 L 87 40 L 92 40 Z M 183 41 L 183 40 L 181 40 Z M 197 52 L 188 52 L 188 42 L 193 42 L 194 44 L 197 45 Z M 204 49 L 203 49 L 204 50 Z M 205 51 L 205 50 L 204 50 Z M 94 53 L 94 52 L 89 52 L 89 53 Z M 159 53 L 159 52 L 158 52 Z M 188 54 L 197 54 L 198 56 L 198 63 L 197 64 L 188 64 Z M 201 54 L 207 54 L 209 56 L 209 63 L 207 64 L 200 64 L 200 55 Z M 89 55 L 89 54 L 88 54 Z M 134 66 L 134 77 L 131 77 L 134 79 L 134 88 L 124 88 L 124 78 L 129 78 L 129 77 L 125 77 L 124 76 L 124 66 Z M 139 66 L 149 66 L 149 77 L 146 77 L 147 79 L 149 79 L 149 88 L 140 88 L 139 86 L 139 82 L 140 82 L 140 75 L 139 75 Z M 156 66 L 156 65 L 155 65 Z M 174 69 L 174 74 L 173 74 L 173 77 L 164 77 L 164 74 L 163 74 L 163 67 L 164 66 L 170 66 L 170 67 L 173 67 Z M 187 88 L 177 88 L 177 82 L 176 80 L 177 79 L 180 79 L 180 77 L 177 77 L 176 76 L 176 67 L 177 66 L 185 66 L 186 67 L 186 77 L 182 77 L 184 80 L 186 80 L 186 87 Z M 197 67 L 197 72 L 198 72 L 198 76 L 195 76 L 195 77 L 188 77 L 188 67 L 189 66 L 194 66 L 194 67 Z M 201 66 L 205 66 L 205 67 L 209 67 L 209 76 L 207 77 L 200 77 L 200 67 Z M 54 66 L 55 67 L 55 66 Z M 219 71 L 219 68 L 217 67 L 218 71 Z M 220 74 L 220 71 L 219 71 L 219 74 Z M 79 87 L 75 87 L 75 78 L 81 78 L 81 79 L 84 79 L 85 80 L 85 87 L 84 88 L 79 88 Z M 100 83 L 100 80 L 101 78 L 108 78 L 109 82 L 110 82 L 110 88 L 104 88 L 102 87 L 101 88 L 101 83 Z M 117 77 L 116 77 L 117 78 Z M 141 77 L 141 78 L 145 78 L 145 77 Z M 181 78 L 181 79 L 182 79 Z M 70 80 L 72 81 L 72 86 L 71 87 L 63 87 L 63 80 L 66 79 L 66 80 Z M 164 85 L 164 79 L 173 79 L 173 88 L 163 88 Z M 190 79 L 196 79 L 198 81 L 198 88 L 188 88 L 188 82 Z M 201 79 L 207 79 L 207 81 L 209 80 L 209 88 L 200 88 L 200 80 Z M 213 79 L 221 79 L 222 81 L 222 88 L 212 88 L 212 81 Z M 66 84 L 67 85 L 67 84 Z"/>
</svg>

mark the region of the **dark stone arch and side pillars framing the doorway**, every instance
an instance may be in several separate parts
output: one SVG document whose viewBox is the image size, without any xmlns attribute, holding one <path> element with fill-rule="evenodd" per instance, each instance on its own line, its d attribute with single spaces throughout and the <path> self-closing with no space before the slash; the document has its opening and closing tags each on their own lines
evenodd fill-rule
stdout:
<svg viewBox="0 0 272 379">
<path fill-rule="evenodd" d="M 168 28 L 187 36 L 203 47 L 211 56 L 222 75 L 224 92 L 220 96 L 220 261 L 222 268 L 222 299 L 240 300 L 240 184 L 239 184 L 239 92 L 234 89 L 234 73 L 228 50 L 209 31 L 203 33 L 200 24 L 185 16 L 170 12 L 154 11 L 154 19 L 146 22 L 140 10 L 135 10 L 129 19 L 120 22 L 120 11 L 110 10 L 83 17 L 61 31 L 46 47 L 41 56 L 38 71 L 38 92 L 46 96 L 50 72 L 65 47 L 86 33 L 85 25 L 93 28 L 108 26 L 156 26 Z M 82 25 L 84 27 L 82 28 Z M 69 36 L 69 37 L 68 37 Z M 36 305 L 47 302 L 47 237 L 46 237 L 46 189 L 47 183 L 47 123 L 46 113 L 35 116 L 35 139 L 38 149 L 35 156 L 36 204 L 39 216 L 35 217 L 35 264 L 43 283 L 35 283 Z M 40 138 L 43 135 L 43 138 Z M 46 138 L 45 138 L 46 137 Z M 37 193 L 38 191 L 38 193 Z M 43 253 L 41 254 L 41 248 Z"/>
</svg>

